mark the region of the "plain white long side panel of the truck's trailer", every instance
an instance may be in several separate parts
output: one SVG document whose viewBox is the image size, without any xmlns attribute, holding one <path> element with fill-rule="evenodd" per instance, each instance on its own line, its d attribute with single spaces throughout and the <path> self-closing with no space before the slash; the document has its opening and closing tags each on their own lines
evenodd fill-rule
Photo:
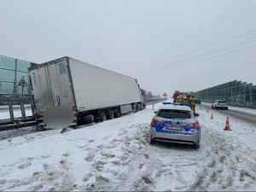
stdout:
<svg viewBox="0 0 256 192">
<path fill-rule="evenodd" d="M 69 58 L 79 111 L 142 102 L 137 80 Z"/>
</svg>

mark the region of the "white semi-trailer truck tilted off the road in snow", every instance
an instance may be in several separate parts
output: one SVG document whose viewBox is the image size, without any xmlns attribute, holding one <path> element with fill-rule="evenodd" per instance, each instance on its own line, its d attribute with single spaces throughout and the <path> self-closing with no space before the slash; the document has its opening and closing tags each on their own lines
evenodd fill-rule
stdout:
<svg viewBox="0 0 256 192">
<path fill-rule="evenodd" d="M 28 69 L 38 119 L 46 108 L 73 108 L 78 123 L 119 118 L 145 108 L 137 79 L 70 57 Z"/>
</svg>

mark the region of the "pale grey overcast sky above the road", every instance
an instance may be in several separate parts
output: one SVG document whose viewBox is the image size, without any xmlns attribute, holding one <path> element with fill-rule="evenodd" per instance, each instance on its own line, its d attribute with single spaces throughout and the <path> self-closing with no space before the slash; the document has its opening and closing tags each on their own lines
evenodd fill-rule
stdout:
<svg viewBox="0 0 256 192">
<path fill-rule="evenodd" d="M 0 0 L 0 55 L 63 56 L 172 96 L 256 84 L 256 0 Z"/>
</svg>

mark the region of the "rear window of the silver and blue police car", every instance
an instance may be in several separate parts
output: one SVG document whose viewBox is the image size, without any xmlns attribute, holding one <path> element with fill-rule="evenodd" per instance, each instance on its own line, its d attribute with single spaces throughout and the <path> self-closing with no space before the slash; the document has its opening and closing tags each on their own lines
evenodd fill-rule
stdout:
<svg viewBox="0 0 256 192">
<path fill-rule="evenodd" d="M 191 115 L 187 111 L 180 111 L 175 109 L 161 109 L 157 116 L 166 119 L 190 119 Z"/>
</svg>

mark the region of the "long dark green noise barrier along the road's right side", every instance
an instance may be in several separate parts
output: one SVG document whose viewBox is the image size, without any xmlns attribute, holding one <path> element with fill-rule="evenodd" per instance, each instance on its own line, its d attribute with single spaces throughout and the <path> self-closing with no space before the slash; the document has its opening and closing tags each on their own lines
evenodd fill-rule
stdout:
<svg viewBox="0 0 256 192">
<path fill-rule="evenodd" d="M 194 95 L 201 102 L 214 102 L 214 100 L 223 99 L 230 106 L 256 108 L 256 85 L 247 84 L 247 82 L 234 80 L 197 91 Z"/>
</svg>

